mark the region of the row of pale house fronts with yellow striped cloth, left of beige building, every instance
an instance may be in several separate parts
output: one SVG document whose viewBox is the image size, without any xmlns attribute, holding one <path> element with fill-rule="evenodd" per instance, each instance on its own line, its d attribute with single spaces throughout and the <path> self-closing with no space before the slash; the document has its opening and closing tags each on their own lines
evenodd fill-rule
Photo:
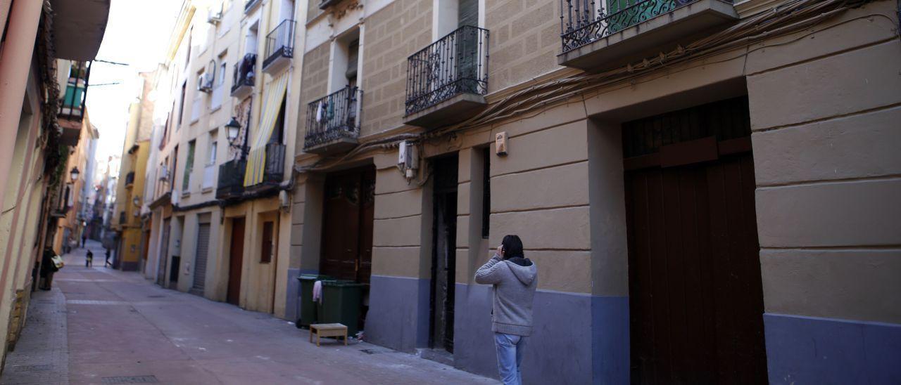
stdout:
<svg viewBox="0 0 901 385">
<path fill-rule="evenodd" d="M 184 2 L 156 86 L 155 187 L 145 198 L 148 278 L 278 316 L 289 229 L 279 192 L 295 142 L 287 122 L 296 104 L 287 98 L 299 81 L 295 12 L 288 1 Z"/>
</svg>

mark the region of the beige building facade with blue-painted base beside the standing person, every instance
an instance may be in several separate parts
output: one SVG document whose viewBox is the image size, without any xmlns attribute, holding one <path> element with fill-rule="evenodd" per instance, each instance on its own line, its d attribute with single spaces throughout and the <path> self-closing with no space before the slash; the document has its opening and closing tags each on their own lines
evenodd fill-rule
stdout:
<svg viewBox="0 0 901 385">
<path fill-rule="evenodd" d="M 901 376 L 896 3 L 307 11 L 287 281 L 367 283 L 369 342 L 496 375 L 518 234 L 527 382 Z"/>
</svg>

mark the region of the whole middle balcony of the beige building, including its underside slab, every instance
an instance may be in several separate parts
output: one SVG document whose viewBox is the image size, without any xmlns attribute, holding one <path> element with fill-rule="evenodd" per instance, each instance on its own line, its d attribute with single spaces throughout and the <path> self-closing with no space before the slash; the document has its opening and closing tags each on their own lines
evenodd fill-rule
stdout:
<svg viewBox="0 0 901 385">
<path fill-rule="evenodd" d="M 460 27 L 407 58 L 404 122 L 433 128 L 464 121 L 485 105 L 488 31 Z"/>
</svg>

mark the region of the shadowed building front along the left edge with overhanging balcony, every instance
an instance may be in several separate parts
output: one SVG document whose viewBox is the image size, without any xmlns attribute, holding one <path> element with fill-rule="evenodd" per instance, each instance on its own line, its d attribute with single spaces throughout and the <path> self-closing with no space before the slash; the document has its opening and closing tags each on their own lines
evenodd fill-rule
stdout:
<svg viewBox="0 0 901 385">
<path fill-rule="evenodd" d="M 96 139 L 84 107 L 109 12 L 108 1 L 83 3 L 0 2 L 0 361 L 24 325 L 41 255 L 60 231 L 78 230 L 72 168 Z"/>
</svg>

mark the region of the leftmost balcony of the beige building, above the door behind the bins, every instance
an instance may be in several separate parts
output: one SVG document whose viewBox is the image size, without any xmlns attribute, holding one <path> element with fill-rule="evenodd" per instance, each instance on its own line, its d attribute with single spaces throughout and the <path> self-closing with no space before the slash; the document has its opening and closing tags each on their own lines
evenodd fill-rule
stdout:
<svg viewBox="0 0 901 385">
<path fill-rule="evenodd" d="M 346 86 L 306 106 L 304 151 L 327 155 L 354 148 L 359 138 L 363 91 Z"/>
</svg>

